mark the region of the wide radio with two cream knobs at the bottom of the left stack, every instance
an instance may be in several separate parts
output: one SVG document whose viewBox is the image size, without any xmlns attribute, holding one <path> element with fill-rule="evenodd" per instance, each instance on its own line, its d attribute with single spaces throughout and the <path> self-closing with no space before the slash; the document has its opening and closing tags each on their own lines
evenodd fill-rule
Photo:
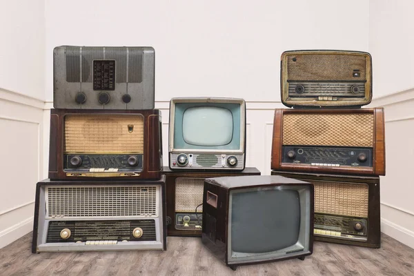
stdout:
<svg viewBox="0 0 414 276">
<path fill-rule="evenodd" d="M 37 184 L 32 253 L 166 250 L 165 177 Z"/>
</svg>

